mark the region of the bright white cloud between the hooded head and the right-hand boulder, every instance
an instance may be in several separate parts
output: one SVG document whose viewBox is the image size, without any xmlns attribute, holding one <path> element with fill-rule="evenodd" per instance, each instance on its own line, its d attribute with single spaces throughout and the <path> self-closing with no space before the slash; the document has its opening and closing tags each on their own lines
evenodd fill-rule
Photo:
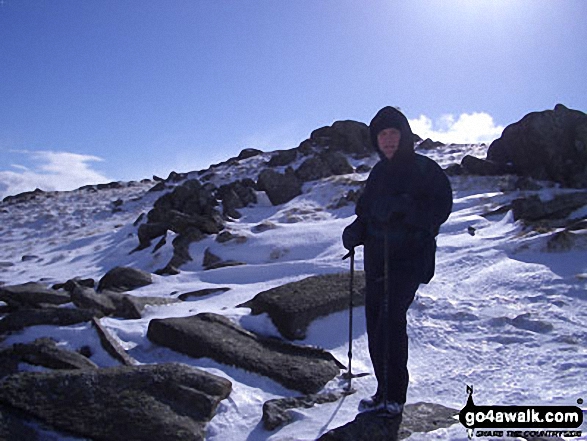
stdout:
<svg viewBox="0 0 587 441">
<path fill-rule="evenodd" d="M 483 112 L 463 113 L 458 118 L 447 114 L 436 121 L 420 115 L 410 120 L 410 126 L 422 139 L 455 144 L 490 143 L 499 138 L 504 129 L 495 124 L 491 115 Z"/>
</svg>

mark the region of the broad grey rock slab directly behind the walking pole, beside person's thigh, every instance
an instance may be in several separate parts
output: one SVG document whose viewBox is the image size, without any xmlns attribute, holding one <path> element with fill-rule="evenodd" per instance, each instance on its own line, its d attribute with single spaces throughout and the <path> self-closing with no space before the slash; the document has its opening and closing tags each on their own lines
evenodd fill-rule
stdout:
<svg viewBox="0 0 587 441">
<path fill-rule="evenodd" d="M 354 305 L 363 305 L 365 280 L 363 272 L 355 273 Z M 342 311 L 349 306 L 348 274 L 312 276 L 263 291 L 242 307 L 253 315 L 267 313 L 281 335 L 295 340 L 306 337 L 306 329 L 318 317 Z"/>
</svg>

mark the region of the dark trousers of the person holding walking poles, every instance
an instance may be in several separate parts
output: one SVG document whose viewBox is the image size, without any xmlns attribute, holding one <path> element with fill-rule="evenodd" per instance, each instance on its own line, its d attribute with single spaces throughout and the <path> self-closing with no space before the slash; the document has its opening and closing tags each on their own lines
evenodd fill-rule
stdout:
<svg viewBox="0 0 587 441">
<path fill-rule="evenodd" d="M 406 314 L 420 283 L 409 272 L 390 270 L 389 308 L 388 317 L 386 317 L 383 307 L 385 295 L 383 277 L 372 278 L 367 274 L 366 282 L 367 337 L 378 383 L 377 393 L 382 398 L 385 398 L 383 394 L 386 393 L 389 402 L 404 404 L 409 382 Z M 387 361 L 385 354 L 387 354 Z M 384 391 L 386 375 L 387 391 Z"/>
</svg>

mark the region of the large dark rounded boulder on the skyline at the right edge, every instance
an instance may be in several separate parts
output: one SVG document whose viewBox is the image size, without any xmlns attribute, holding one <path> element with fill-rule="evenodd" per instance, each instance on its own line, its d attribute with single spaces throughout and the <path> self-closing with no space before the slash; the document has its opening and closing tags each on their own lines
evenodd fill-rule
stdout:
<svg viewBox="0 0 587 441">
<path fill-rule="evenodd" d="M 505 128 L 487 159 L 523 176 L 587 188 L 587 115 L 562 104 L 530 113 Z"/>
</svg>

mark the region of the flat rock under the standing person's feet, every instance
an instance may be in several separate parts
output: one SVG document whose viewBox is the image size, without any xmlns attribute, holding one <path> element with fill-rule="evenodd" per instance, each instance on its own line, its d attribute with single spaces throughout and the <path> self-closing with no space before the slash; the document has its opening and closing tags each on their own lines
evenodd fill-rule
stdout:
<svg viewBox="0 0 587 441">
<path fill-rule="evenodd" d="M 403 415 L 396 418 L 380 418 L 359 414 L 348 424 L 331 430 L 319 441 L 394 441 L 406 439 L 413 433 L 426 433 L 458 424 L 459 411 L 440 404 L 408 404 Z"/>
</svg>

